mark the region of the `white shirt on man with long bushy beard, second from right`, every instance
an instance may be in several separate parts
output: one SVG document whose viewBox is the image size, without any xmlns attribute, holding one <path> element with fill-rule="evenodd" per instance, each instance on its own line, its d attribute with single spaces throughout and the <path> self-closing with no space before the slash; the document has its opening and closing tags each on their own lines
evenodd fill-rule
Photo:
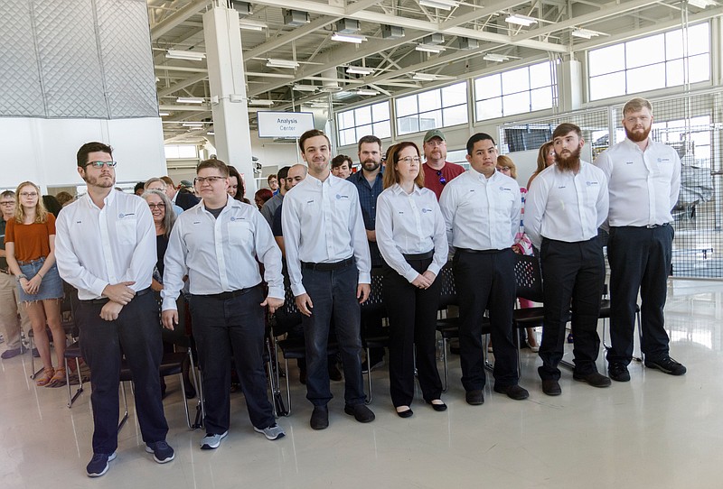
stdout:
<svg viewBox="0 0 723 489">
<path fill-rule="evenodd" d="M 586 161 L 580 161 L 577 173 L 549 166 L 530 187 L 525 199 L 525 233 L 538 248 L 543 237 L 568 243 L 592 239 L 606 220 L 606 176 Z"/>
</svg>

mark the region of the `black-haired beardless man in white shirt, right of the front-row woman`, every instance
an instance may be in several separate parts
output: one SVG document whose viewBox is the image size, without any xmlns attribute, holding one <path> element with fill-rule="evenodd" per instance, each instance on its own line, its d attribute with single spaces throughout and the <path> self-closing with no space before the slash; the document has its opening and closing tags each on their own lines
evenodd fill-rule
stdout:
<svg viewBox="0 0 723 489">
<path fill-rule="evenodd" d="M 482 321 L 490 311 L 494 345 L 494 391 L 515 400 L 529 393 L 519 386 L 517 348 L 512 342 L 515 301 L 514 236 L 520 229 L 520 186 L 497 171 L 491 135 L 467 141 L 472 168 L 446 183 L 439 199 L 447 241 L 455 249 L 453 271 L 459 298 L 459 350 L 466 401 L 484 402 Z"/>
</svg>

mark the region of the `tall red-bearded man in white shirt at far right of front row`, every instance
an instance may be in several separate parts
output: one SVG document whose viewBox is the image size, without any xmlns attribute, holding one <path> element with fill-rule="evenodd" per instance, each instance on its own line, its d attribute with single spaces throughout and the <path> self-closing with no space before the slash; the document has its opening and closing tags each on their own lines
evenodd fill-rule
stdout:
<svg viewBox="0 0 723 489">
<path fill-rule="evenodd" d="M 635 304 L 642 299 L 645 366 L 665 374 L 682 375 L 686 368 L 670 356 L 665 332 L 668 274 L 671 271 L 671 209 L 681 189 L 681 159 L 670 146 L 656 143 L 649 134 L 653 108 L 644 98 L 623 107 L 627 136 L 600 154 L 596 165 L 610 180 L 610 339 L 608 372 L 628 382 L 627 365 L 633 358 Z M 577 337 L 576 337 L 577 341 Z"/>
</svg>

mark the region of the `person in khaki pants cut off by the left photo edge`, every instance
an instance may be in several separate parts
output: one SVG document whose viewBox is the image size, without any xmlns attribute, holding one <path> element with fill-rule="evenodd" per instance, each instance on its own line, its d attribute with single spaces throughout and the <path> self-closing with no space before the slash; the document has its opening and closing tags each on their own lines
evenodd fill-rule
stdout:
<svg viewBox="0 0 723 489">
<path fill-rule="evenodd" d="M 0 330 L 5 335 L 5 346 L 7 349 L 0 355 L 0 358 L 7 360 L 25 353 L 27 348 L 21 341 L 22 330 L 29 331 L 31 328 L 30 318 L 25 308 L 18 308 L 17 287 L 13 275 L 7 267 L 5 259 L 5 224 L 8 219 L 15 217 L 15 192 L 5 190 L 0 194 Z M 17 313 L 20 312 L 21 320 L 18 321 Z"/>
</svg>

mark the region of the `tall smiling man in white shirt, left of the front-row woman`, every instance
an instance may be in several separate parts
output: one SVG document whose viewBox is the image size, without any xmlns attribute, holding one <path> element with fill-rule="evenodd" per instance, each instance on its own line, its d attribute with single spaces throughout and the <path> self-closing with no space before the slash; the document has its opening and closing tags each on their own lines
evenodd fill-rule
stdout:
<svg viewBox="0 0 723 489">
<path fill-rule="evenodd" d="M 329 426 L 326 346 L 332 315 L 342 353 L 344 411 L 369 422 L 374 413 L 364 405 L 359 304 L 369 297 L 371 259 L 359 194 L 352 183 L 331 174 L 326 134 L 306 131 L 299 148 L 309 173 L 286 194 L 281 221 L 291 289 L 304 315 L 306 399 L 314 404 L 309 424 Z"/>
</svg>

